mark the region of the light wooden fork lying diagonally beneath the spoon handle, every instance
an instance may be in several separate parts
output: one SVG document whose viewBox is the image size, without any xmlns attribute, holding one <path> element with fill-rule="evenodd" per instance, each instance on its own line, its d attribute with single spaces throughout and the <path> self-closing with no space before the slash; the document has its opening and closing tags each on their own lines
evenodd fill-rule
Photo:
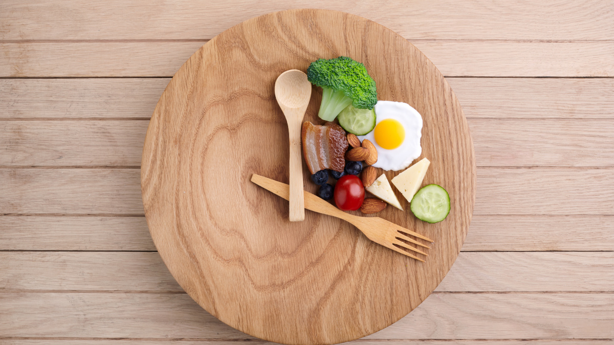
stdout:
<svg viewBox="0 0 614 345">
<path fill-rule="evenodd" d="M 276 180 L 271 180 L 257 174 L 252 175 L 252 182 L 262 188 L 265 188 L 270 192 L 273 192 L 276 195 L 281 196 L 286 200 L 289 200 L 290 198 L 290 186 L 287 184 Z M 359 217 L 357 215 L 343 212 L 332 204 L 327 203 L 326 201 L 309 192 L 305 192 L 305 208 L 314 212 L 332 215 L 333 217 L 346 220 L 346 222 L 351 223 L 352 225 L 354 225 L 354 227 L 357 227 L 360 231 L 362 231 L 362 233 L 365 234 L 365 236 L 367 236 L 367 238 L 371 241 L 379 243 L 384 247 L 395 250 L 396 252 L 399 252 L 403 255 L 407 255 L 408 257 L 414 258 L 421 262 L 424 262 L 424 260 L 410 254 L 406 250 L 400 249 L 397 246 L 413 250 L 414 252 L 420 253 L 422 255 L 428 256 L 428 254 L 422 252 L 416 247 L 412 247 L 409 244 L 400 241 L 400 239 L 404 239 L 405 241 L 409 241 L 425 248 L 430 247 L 406 235 L 403 235 L 403 233 L 416 236 L 417 238 L 424 239 L 425 241 L 433 242 L 433 240 L 430 238 L 422 236 L 419 233 L 415 233 L 414 231 L 407 230 L 406 228 L 400 227 L 395 223 L 387 221 L 386 219 L 381 219 L 379 217 Z"/>
</svg>

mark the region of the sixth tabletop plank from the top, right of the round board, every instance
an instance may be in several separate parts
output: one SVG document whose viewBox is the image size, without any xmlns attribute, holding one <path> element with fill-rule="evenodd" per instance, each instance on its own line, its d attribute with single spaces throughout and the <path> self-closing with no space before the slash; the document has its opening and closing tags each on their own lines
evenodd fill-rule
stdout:
<svg viewBox="0 0 614 345">
<path fill-rule="evenodd" d="M 614 250 L 612 215 L 473 215 L 462 250 Z"/>
</svg>

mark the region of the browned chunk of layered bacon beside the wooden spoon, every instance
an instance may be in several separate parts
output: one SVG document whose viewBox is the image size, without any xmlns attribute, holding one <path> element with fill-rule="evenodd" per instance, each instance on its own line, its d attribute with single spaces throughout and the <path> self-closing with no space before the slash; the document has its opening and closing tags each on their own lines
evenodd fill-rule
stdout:
<svg viewBox="0 0 614 345">
<path fill-rule="evenodd" d="M 348 139 L 340 125 L 327 122 L 324 126 L 318 126 L 309 121 L 303 122 L 301 141 L 303 157 L 311 174 L 322 169 L 341 172 L 345 168 L 343 156 L 348 150 Z"/>
</svg>

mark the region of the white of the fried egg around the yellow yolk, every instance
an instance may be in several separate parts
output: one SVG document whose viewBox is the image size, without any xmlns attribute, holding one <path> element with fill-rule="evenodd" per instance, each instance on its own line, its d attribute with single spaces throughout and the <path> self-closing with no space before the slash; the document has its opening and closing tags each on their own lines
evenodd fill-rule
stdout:
<svg viewBox="0 0 614 345">
<path fill-rule="evenodd" d="M 359 136 L 360 141 L 368 139 L 378 149 L 378 161 L 375 168 L 398 171 L 410 166 L 411 162 L 422 154 L 420 139 L 422 138 L 422 116 L 418 110 L 407 103 L 378 101 L 375 104 L 376 126 L 382 120 L 393 118 L 401 123 L 405 130 L 405 140 L 393 150 L 387 150 L 375 141 L 375 129 Z"/>
</svg>

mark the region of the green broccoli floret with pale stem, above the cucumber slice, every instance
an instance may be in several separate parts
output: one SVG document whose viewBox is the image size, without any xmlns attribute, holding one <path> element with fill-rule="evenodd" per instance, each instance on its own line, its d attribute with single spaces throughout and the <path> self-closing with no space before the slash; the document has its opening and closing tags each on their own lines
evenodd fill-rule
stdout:
<svg viewBox="0 0 614 345">
<path fill-rule="evenodd" d="M 375 80 L 369 76 L 365 65 L 346 56 L 313 61 L 307 68 L 307 79 L 322 88 L 322 103 L 317 114 L 322 120 L 335 120 L 350 104 L 373 109 L 378 101 Z"/>
</svg>

